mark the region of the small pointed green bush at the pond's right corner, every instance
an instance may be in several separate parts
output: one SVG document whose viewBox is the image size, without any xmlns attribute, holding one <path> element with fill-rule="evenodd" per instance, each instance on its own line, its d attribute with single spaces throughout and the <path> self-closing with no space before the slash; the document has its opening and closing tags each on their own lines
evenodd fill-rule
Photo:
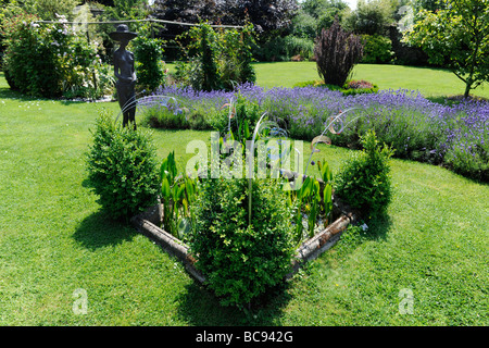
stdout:
<svg viewBox="0 0 489 348">
<path fill-rule="evenodd" d="M 346 162 L 335 177 L 336 195 L 359 209 L 365 219 L 383 214 L 391 200 L 389 159 L 392 150 L 380 148 L 375 132 L 361 137 L 363 151 Z"/>
</svg>

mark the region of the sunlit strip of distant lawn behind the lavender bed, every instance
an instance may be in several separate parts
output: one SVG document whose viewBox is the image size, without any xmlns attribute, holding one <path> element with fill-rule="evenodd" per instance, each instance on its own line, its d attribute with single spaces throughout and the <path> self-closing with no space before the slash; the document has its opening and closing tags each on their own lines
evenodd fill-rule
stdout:
<svg viewBox="0 0 489 348">
<path fill-rule="evenodd" d="M 300 82 L 319 79 L 315 62 L 255 63 L 254 69 L 256 84 L 265 88 L 292 87 Z M 431 67 L 359 64 L 352 78 L 366 79 L 380 89 L 419 90 L 425 97 L 463 95 L 465 90 L 464 84 L 453 73 Z M 489 98 L 489 84 L 472 94 Z"/>
</svg>

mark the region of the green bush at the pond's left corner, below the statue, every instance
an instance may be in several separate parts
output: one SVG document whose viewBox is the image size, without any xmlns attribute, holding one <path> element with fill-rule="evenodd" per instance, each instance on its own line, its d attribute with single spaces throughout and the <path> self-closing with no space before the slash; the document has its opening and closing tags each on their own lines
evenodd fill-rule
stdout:
<svg viewBox="0 0 489 348">
<path fill-rule="evenodd" d="M 102 208 L 114 219 L 129 219 L 154 204 L 159 184 L 150 134 L 116 125 L 108 113 L 99 115 L 92 134 L 86 164 Z"/>
</svg>

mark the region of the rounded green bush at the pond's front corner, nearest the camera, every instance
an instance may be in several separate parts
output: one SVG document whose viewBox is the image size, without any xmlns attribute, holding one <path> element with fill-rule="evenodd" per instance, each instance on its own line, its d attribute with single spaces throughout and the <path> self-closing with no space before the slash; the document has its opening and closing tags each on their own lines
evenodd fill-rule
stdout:
<svg viewBox="0 0 489 348">
<path fill-rule="evenodd" d="M 293 243 L 284 191 L 275 179 L 255 179 L 252 195 L 248 224 L 248 179 L 199 182 L 190 247 L 223 304 L 250 303 L 290 271 Z"/>
</svg>

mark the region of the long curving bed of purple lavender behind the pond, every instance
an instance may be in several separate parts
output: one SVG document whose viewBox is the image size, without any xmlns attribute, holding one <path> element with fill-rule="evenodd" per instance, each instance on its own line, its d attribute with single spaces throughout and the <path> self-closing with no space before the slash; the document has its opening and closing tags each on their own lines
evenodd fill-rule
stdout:
<svg viewBox="0 0 489 348">
<path fill-rule="evenodd" d="M 241 85 L 238 89 L 243 98 L 259 105 L 260 112 L 281 120 L 292 138 L 312 140 L 322 133 L 328 117 L 355 108 L 343 120 L 352 123 L 343 133 L 331 136 L 333 144 L 360 149 L 360 135 L 374 129 L 379 141 L 396 150 L 397 158 L 443 164 L 463 175 L 489 181 L 488 102 L 442 105 L 409 90 L 344 97 L 340 91 L 316 87 L 265 90 Z M 222 130 L 227 119 L 221 107 L 230 98 L 236 100 L 237 94 L 168 86 L 159 89 L 154 98 L 173 96 L 180 108 L 189 110 L 188 120 L 200 115 L 200 128 Z M 352 121 L 355 117 L 359 119 Z"/>
</svg>

